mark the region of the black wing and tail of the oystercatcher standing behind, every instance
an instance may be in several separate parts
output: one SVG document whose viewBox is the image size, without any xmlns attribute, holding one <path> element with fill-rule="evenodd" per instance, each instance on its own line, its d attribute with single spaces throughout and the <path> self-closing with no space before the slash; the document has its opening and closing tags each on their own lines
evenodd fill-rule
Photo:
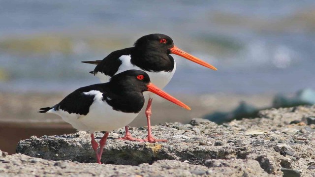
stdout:
<svg viewBox="0 0 315 177">
<path fill-rule="evenodd" d="M 110 53 L 103 60 L 96 61 L 82 61 L 84 63 L 97 64 L 94 71 L 90 72 L 92 74 L 96 74 L 98 72 L 104 73 L 107 76 L 113 76 L 119 69 L 122 61 L 119 59 L 123 55 L 131 55 L 133 47 L 114 51 Z"/>
</svg>

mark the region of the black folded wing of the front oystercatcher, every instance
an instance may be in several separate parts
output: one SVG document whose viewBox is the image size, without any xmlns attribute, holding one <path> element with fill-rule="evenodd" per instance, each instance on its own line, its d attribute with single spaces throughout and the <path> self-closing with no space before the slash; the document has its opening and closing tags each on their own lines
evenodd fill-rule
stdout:
<svg viewBox="0 0 315 177">
<path fill-rule="evenodd" d="M 104 85 L 106 84 L 95 84 L 77 89 L 66 96 L 59 104 L 55 105 L 53 108 L 56 111 L 61 109 L 70 114 L 74 113 L 79 115 L 87 115 L 89 113 L 90 106 L 94 101 L 95 95 L 84 94 L 84 92 L 98 90 L 104 93 Z"/>
</svg>

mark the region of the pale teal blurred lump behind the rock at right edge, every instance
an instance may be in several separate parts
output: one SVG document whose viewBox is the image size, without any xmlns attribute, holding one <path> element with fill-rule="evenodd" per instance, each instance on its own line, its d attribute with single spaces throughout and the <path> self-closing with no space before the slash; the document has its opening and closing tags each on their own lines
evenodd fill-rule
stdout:
<svg viewBox="0 0 315 177">
<path fill-rule="evenodd" d="M 315 90 L 302 89 L 298 91 L 293 97 L 288 97 L 282 94 L 275 96 L 272 107 L 285 108 L 299 105 L 313 105 L 315 104 Z"/>
</svg>

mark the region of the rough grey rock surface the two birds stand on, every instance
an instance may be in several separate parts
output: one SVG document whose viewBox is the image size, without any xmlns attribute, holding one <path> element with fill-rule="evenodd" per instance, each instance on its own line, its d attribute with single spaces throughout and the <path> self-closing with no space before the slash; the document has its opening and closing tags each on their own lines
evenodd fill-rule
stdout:
<svg viewBox="0 0 315 177">
<path fill-rule="evenodd" d="M 0 176 L 315 176 L 315 124 L 307 125 L 315 106 L 265 110 L 259 116 L 222 125 L 196 118 L 154 126 L 156 138 L 166 143 L 114 140 L 124 133 L 119 129 L 110 133 L 102 156 L 106 165 L 94 163 L 86 132 L 33 136 L 17 146 L 25 155 L 0 157 Z M 147 133 L 143 127 L 130 132 L 137 138 Z"/>
</svg>

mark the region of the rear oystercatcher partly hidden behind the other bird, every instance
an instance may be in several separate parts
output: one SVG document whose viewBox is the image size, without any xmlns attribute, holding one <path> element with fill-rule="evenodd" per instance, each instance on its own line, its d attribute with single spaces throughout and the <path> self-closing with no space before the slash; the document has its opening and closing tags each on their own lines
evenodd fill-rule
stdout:
<svg viewBox="0 0 315 177">
<path fill-rule="evenodd" d="M 96 75 L 102 83 L 108 82 L 110 77 L 123 71 L 138 69 L 147 72 L 151 81 L 156 83 L 159 88 L 164 88 L 172 79 L 176 69 L 176 62 L 169 54 L 176 54 L 210 69 L 217 70 L 211 64 L 174 46 L 172 38 L 165 34 L 142 36 L 134 43 L 134 47 L 114 51 L 103 60 L 82 62 L 97 64 L 94 71 L 90 73 Z M 128 126 L 126 126 L 126 136 L 120 138 L 121 140 L 147 141 L 150 143 L 167 141 L 157 140 L 152 136 L 150 117 L 152 115 L 151 105 L 153 95 L 149 94 L 148 96 L 149 101 L 145 112 L 148 122 L 148 137 L 144 140 L 133 138 L 128 132 Z"/>
</svg>

